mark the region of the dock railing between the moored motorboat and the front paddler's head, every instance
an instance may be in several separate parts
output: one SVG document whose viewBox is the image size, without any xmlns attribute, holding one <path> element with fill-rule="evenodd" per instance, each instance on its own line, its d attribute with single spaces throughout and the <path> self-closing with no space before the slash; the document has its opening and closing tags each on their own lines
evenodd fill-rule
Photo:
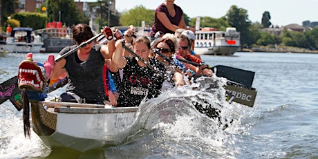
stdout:
<svg viewBox="0 0 318 159">
<path fill-rule="evenodd" d="M 37 35 L 42 35 L 44 39 L 48 37 L 58 37 L 71 39 L 73 37 L 71 28 L 44 28 L 35 30 Z"/>
</svg>

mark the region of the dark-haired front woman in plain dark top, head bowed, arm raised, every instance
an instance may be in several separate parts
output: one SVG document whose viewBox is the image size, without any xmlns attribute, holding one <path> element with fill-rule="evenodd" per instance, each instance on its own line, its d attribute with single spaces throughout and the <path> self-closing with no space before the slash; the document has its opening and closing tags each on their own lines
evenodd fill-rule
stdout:
<svg viewBox="0 0 318 159">
<path fill-rule="evenodd" d="M 79 48 L 77 52 L 61 59 L 53 67 L 51 79 L 59 78 L 62 73 L 68 75 L 66 93 L 61 95 L 62 102 L 86 102 L 91 104 L 104 104 L 107 100 L 103 86 L 103 66 L 105 59 L 110 59 L 115 50 L 115 42 L 110 28 L 102 30 L 109 43 L 107 45 L 95 45 L 93 43 Z M 64 55 L 84 41 L 93 37 L 91 28 L 86 24 L 77 24 L 73 28 L 74 46 L 66 46 L 59 56 Z"/>
</svg>

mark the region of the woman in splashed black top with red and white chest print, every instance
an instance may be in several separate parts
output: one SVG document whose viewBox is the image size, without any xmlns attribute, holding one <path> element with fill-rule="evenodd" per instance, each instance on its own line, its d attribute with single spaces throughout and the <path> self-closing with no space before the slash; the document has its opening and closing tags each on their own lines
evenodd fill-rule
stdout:
<svg viewBox="0 0 318 159">
<path fill-rule="evenodd" d="M 113 62 L 123 71 L 118 106 L 138 106 L 144 99 L 157 97 L 162 82 L 172 79 L 173 75 L 166 73 L 164 64 L 148 57 L 148 37 L 137 37 L 133 43 L 133 51 L 142 59 L 123 56 L 122 41 L 116 42 L 116 48 Z M 180 82 L 177 79 L 176 81 Z"/>
</svg>

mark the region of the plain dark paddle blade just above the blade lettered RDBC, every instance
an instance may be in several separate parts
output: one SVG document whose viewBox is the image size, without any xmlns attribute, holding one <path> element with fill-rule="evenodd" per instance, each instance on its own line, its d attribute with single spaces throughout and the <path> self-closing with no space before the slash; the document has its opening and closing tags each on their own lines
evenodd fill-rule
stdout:
<svg viewBox="0 0 318 159">
<path fill-rule="evenodd" d="M 216 68 L 216 76 L 225 77 L 230 81 L 243 84 L 250 88 L 252 87 L 255 75 L 254 72 L 223 65 L 214 66 L 214 68 Z M 212 70 L 214 70 L 214 68 L 212 68 Z"/>
</svg>

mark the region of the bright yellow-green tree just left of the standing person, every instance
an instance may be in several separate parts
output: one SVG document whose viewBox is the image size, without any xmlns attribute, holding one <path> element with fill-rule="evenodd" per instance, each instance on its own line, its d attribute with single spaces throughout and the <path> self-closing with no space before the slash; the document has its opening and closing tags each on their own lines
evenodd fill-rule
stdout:
<svg viewBox="0 0 318 159">
<path fill-rule="evenodd" d="M 122 24 L 122 26 L 129 26 L 131 24 L 133 26 L 141 26 L 141 21 L 146 21 L 152 26 L 154 17 L 154 10 L 148 10 L 144 8 L 144 6 L 135 6 L 135 8 L 122 13 L 120 24 Z"/>
</svg>

